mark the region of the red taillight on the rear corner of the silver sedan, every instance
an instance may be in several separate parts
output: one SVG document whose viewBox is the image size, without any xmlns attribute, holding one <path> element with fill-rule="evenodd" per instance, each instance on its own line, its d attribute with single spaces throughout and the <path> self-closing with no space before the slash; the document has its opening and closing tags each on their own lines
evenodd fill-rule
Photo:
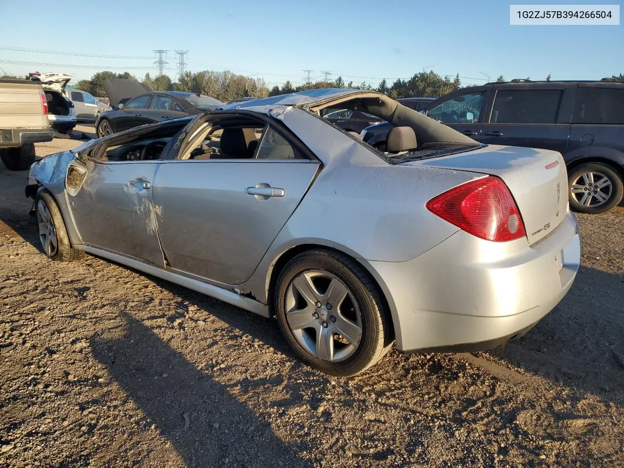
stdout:
<svg viewBox="0 0 624 468">
<path fill-rule="evenodd" d="M 504 242 L 526 235 L 520 212 L 498 177 L 485 177 L 431 198 L 427 210 L 485 240 Z"/>
</svg>

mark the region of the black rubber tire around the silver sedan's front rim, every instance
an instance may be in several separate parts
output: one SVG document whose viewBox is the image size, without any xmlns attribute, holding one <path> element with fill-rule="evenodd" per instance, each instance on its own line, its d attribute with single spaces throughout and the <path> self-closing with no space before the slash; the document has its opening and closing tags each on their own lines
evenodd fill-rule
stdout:
<svg viewBox="0 0 624 468">
<path fill-rule="evenodd" d="M 40 203 L 42 203 L 46 209 L 47 213 L 49 213 L 49 220 L 54 228 L 54 235 L 56 237 L 56 246 L 54 251 L 50 251 L 46 248 L 46 243 L 43 240 L 42 234 L 42 212 L 40 211 Z M 35 197 L 35 212 L 37 219 L 37 227 L 39 228 L 39 240 L 41 241 L 41 247 L 48 258 L 51 258 L 54 261 L 74 261 L 79 260 L 84 256 L 84 252 L 82 250 L 76 250 L 71 246 L 69 242 L 69 236 L 67 235 L 67 230 L 65 228 L 65 223 L 63 222 L 63 217 L 61 215 L 61 210 L 59 210 L 58 205 L 54 201 L 51 193 L 45 189 L 39 190 L 37 192 L 37 196 Z"/>
</svg>

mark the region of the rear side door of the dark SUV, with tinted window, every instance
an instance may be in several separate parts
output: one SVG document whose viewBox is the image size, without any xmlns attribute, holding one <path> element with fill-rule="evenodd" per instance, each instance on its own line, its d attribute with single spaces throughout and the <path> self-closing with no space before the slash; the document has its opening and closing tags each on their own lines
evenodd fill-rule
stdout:
<svg viewBox="0 0 624 468">
<path fill-rule="evenodd" d="M 563 83 L 495 86 L 481 143 L 565 152 L 574 87 Z"/>
</svg>

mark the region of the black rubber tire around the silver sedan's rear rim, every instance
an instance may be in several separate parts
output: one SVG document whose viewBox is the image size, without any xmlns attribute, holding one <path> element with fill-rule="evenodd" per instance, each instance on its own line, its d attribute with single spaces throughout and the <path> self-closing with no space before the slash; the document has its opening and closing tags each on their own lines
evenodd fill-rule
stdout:
<svg viewBox="0 0 624 468">
<path fill-rule="evenodd" d="M 286 293 L 291 282 L 305 271 L 327 272 L 337 278 L 348 288 L 361 311 L 359 344 L 352 354 L 341 361 L 326 361 L 314 356 L 299 343 L 288 324 Z M 274 299 L 278 322 L 286 341 L 306 364 L 323 373 L 341 377 L 362 373 L 377 363 L 392 345 L 391 321 L 377 286 L 362 266 L 342 253 L 315 249 L 295 256 L 278 277 Z"/>
</svg>

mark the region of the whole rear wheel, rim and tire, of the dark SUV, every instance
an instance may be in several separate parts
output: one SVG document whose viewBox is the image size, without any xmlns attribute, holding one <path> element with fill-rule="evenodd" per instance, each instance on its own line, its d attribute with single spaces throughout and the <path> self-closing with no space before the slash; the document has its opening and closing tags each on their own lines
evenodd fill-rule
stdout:
<svg viewBox="0 0 624 468">
<path fill-rule="evenodd" d="M 585 163 L 568 175 L 570 207 L 581 213 L 608 212 L 622 200 L 622 178 L 602 163 Z"/>
</svg>

